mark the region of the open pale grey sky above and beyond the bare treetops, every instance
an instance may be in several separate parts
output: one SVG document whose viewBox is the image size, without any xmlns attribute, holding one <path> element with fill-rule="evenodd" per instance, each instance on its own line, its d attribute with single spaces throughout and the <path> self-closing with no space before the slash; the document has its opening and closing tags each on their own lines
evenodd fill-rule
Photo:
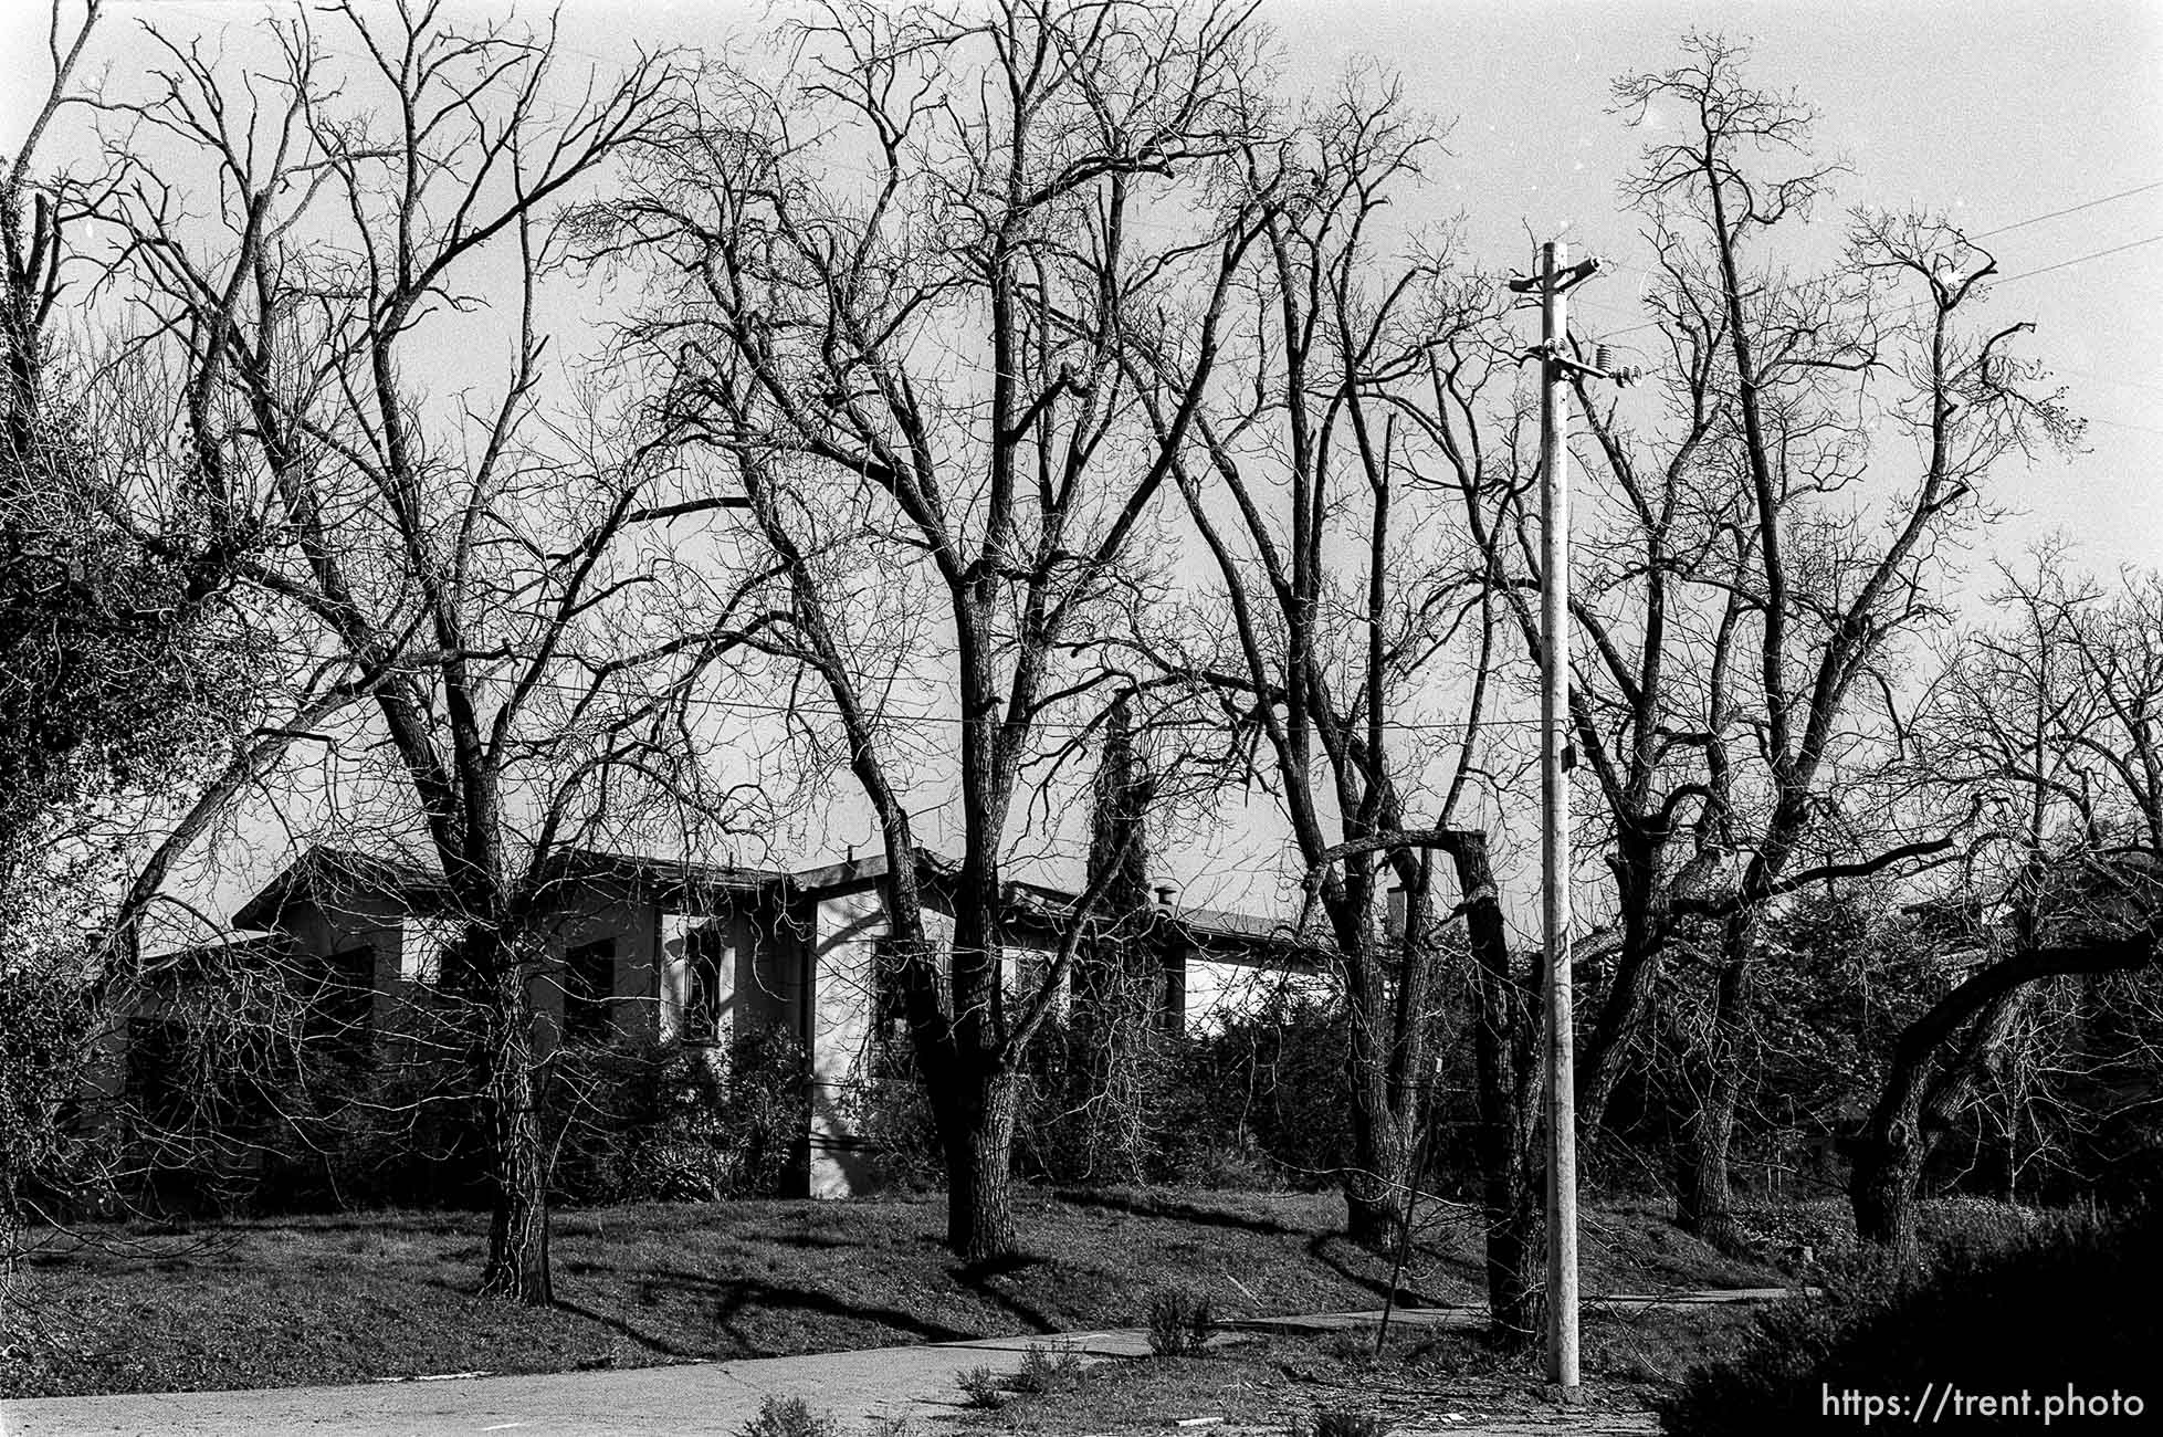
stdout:
<svg viewBox="0 0 2163 1437">
<path fill-rule="evenodd" d="M 112 0 L 91 67 L 125 91 L 149 54 L 138 19 L 244 50 L 262 17 L 292 9 Z M 0 2 L 11 80 L 0 149 L 41 89 L 41 13 L 37 0 Z M 558 13 L 567 50 L 612 63 L 634 43 L 744 45 L 777 11 L 764 0 L 562 0 Z M 1259 13 L 1287 93 L 1326 89 L 1345 65 L 1376 58 L 1417 108 L 1449 121 L 1447 154 L 1402 201 L 1399 225 L 1460 223 L 1467 251 L 1497 268 L 1527 264 L 1534 238 L 1605 258 L 1609 273 L 1573 294 L 1575 329 L 1611 333 L 1624 351 L 1642 322 L 1646 247 L 1616 184 L 1646 136 L 1611 110 L 1609 84 L 1676 63 L 1689 30 L 1748 39 L 1754 80 L 1815 104 L 1817 151 L 1852 167 L 1830 212 L 1921 206 L 1966 227 L 2005 275 L 1986 318 L 2033 320 L 2029 353 L 2089 422 L 2083 452 L 1999 476 L 1994 500 L 2009 513 L 1975 571 L 2053 532 L 2089 569 L 2163 563 L 2163 0 L 1263 0 Z M 867 840 L 863 822 L 839 827 Z M 1170 863 L 1198 876 L 1222 857 L 1203 844 Z"/>
</svg>

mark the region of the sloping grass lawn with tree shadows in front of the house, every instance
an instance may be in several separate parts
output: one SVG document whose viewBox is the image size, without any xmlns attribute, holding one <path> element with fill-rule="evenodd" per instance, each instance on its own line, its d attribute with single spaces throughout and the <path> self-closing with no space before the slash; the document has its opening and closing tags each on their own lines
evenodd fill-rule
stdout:
<svg viewBox="0 0 2163 1437">
<path fill-rule="evenodd" d="M 1144 1320 L 1164 1286 L 1222 1316 L 1376 1307 L 1389 1264 L 1335 1234 L 1335 1195 L 1023 1190 L 1027 1257 L 941 1247 L 939 1197 L 562 1212 L 552 1309 L 476 1298 L 487 1218 L 363 1212 L 50 1236 L 0 1311 L 0 1396 L 567 1372 Z M 1655 1208 L 1585 1214 L 1585 1292 L 1756 1286 Z M 1423 1305 L 1479 1301 L 1479 1236 L 1425 1234 Z"/>
</svg>

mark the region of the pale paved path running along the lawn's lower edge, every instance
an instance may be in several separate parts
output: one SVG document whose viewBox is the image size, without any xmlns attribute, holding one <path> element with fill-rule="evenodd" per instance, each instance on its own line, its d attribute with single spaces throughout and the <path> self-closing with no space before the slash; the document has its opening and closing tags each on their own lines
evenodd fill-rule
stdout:
<svg viewBox="0 0 2163 1437">
<path fill-rule="evenodd" d="M 1588 1298 L 1588 1305 L 1737 1303 L 1782 1296 L 1780 1288 Z M 1410 1307 L 1391 1322 L 1475 1327 L 1482 1307 Z M 1371 1327 L 1378 1311 L 1317 1311 L 1224 1322 L 1231 1331 L 1341 1331 Z M 854 1437 L 876 1420 L 915 1418 L 919 1433 L 941 1413 L 960 1413 L 956 1379 L 969 1368 L 1014 1372 L 1032 1344 L 1073 1346 L 1084 1357 L 1146 1357 L 1142 1329 L 982 1337 L 811 1357 L 699 1361 L 616 1372 L 536 1376 L 456 1376 L 353 1387 L 257 1387 L 247 1392 L 162 1392 L 108 1398 L 30 1398 L 0 1402 L 0 1437 L 236 1437 L 240 1433 L 515 1433 L 584 1437 L 590 1433 L 738 1433 L 766 1396 L 800 1396 L 831 1411 Z M 1512 1420 L 1497 1426 L 1436 1431 L 1488 1433 L 1653 1433 L 1650 1418 L 1607 1413 Z M 1220 1433 L 1222 1428 L 1200 1428 Z"/>
</svg>

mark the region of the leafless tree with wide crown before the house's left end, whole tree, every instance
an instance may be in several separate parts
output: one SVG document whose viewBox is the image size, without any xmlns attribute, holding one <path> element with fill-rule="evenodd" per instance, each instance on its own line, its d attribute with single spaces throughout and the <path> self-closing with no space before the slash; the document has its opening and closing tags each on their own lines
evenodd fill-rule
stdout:
<svg viewBox="0 0 2163 1437">
<path fill-rule="evenodd" d="M 694 786 L 677 710 L 707 656 L 696 628 L 645 623 L 653 554 L 629 545 L 696 498 L 606 416 L 549 418 L 547 206 L 653 134 L 671 69 L 565 76 L 552 35 L 467 30 L 439 4 L 331 17 L 335 48 L 270 24 L 260 74 L 151 28 L 151 93 L 108 102 L 138 156 L 110 212 L 156 316 L 145 344 L 184 374 L 186 483 L 260 539 L 236 574 L 288 625 L 286 658 L 366 695 L 389 825 L 454 900 L 446 987 L 495 1179 L 482 1290 L 545 1303 L 549 859 L 642 814 L 638 794 Z M 472 370 L 430 344 L 489 333 L 459 318 L 489 314 L 491 271 L 513 290 L 500 385 L 446 394 Z"/>
</svg>

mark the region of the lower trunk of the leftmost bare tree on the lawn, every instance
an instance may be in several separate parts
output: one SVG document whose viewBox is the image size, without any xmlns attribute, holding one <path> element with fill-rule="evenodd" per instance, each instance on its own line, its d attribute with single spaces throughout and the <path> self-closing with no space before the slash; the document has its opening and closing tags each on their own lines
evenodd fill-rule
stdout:
<svg viewBox="0 0 2163 1437">
<path fill-rule="evenodd" d="M 480 1292 L 528 1307 L 556 1301 L 549 1281 L 547 1143 L 534 1084 L 534 1011 L 526 965 L 500 952 L 482 1017 L 482 1117 L 493 1158 L 489 1266 Z"/>
</svg>

